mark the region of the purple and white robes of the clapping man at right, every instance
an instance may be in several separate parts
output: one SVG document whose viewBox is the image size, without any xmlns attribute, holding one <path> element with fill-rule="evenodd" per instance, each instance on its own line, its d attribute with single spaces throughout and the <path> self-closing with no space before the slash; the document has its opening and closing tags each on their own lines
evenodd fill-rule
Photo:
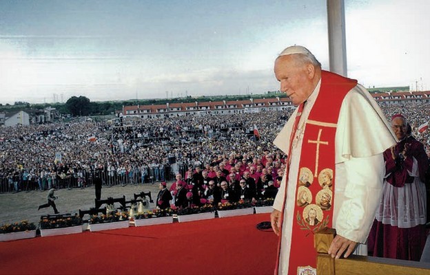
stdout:
<svg viewBox="0 0 430 275">
<path fill-rule="evenodd" d="M 402 155 L 405 144 L 409 148 Z M 369 252 L 373 256 L 420 261 L 427 237 L 427 154 L 422 143 L 409 136 L 396 144 L 393 153 L 387 149 L 384 159 L 384 187 L 369 234 Z"/>
</svg>

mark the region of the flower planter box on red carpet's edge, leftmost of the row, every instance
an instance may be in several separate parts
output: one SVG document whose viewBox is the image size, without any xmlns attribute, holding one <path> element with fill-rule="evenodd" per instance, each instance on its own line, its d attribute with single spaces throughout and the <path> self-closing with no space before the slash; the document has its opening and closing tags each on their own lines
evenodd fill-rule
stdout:
<svg viewBox="0 0 430 275">
<path fill-rule="evenodd" d="M 0 241 L 29 239 L 36 236 L 36 225 L 27 220 L 6 223 L 0 227 Z"/>
</svg>

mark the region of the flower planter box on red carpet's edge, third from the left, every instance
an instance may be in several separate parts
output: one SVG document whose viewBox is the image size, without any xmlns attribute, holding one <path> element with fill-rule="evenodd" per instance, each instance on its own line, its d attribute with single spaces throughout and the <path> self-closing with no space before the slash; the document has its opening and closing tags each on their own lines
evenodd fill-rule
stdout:
<svg viewBox="0 0 430 275">
<path fill-rule="evenodd" d="M 112 212 L 109 214 L 92 215 L 88 220 L 88 227 L 91 232 L 101 230 L 111 230 L 119 228 L 128 228 L 130 221 L 128 221 L 127 212 Z"/>
</svg>

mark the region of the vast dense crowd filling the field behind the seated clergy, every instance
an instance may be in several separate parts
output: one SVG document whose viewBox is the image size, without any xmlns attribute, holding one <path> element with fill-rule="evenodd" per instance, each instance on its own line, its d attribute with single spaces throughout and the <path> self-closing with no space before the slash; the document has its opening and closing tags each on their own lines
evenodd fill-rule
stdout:
<svg viewBox="0 0 430 275">
<path fill-rule="evenodd" d="M 417 129 L 430 119 L 423 112 L 429 105 L 380 104 L 387 118 L 394 113 L 409 118 L 427 155 L 429 131 Z M 214 170 L 221 162 L 240 161 L 248 167 L 267 156 L 280 166 L 285 155 L 272 142 L 292 111 L 3 127 L 0 192 L 85 188 L 94 184 L 96 174 L 103 185 L 167 181 L 178 173 L 186 179 L 190 165 Z M 223 174 L 228 177 L 229 172 Z"/>
</svg>

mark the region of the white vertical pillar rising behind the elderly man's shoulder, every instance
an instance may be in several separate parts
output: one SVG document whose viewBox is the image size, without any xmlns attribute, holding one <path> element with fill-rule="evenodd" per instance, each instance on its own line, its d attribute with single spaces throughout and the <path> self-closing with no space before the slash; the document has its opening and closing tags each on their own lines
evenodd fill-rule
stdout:
<svg viewBox="0 0 430 275">
<path fill-rule="evenodd" d="M 330 72 L 347 76 L 344 0 L 327 0 Z"/>
</svg>

